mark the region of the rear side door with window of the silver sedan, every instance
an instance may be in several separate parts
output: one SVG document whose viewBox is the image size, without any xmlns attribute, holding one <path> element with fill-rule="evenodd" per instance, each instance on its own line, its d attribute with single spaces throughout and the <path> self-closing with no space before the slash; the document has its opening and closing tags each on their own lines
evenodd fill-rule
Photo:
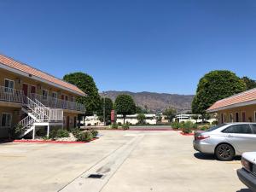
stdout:
<svg viewBox="0 0 256 192">
<path fill-rule="evenodd" d="M 223 131 L 227 141 L 235 147 L 239 153 L 256 150 L 256 134 L 248 124 L 231 125 Z"/>
</svg>

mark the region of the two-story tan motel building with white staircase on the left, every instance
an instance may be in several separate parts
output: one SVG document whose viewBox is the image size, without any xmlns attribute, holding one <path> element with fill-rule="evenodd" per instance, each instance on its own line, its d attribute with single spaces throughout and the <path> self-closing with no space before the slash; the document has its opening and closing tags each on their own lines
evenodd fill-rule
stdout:
<svg viewBox="0 0 256 192">
<path fill-rule="evenodd" d="M 73 84 L 57 79 L 20 61 L 0 55 L 0 138 L 9 137 L 11 128 L 22 128 L 20 137 L 49 136 L 52 127 L 76 127 L 85 96 Z"/>
</svg>

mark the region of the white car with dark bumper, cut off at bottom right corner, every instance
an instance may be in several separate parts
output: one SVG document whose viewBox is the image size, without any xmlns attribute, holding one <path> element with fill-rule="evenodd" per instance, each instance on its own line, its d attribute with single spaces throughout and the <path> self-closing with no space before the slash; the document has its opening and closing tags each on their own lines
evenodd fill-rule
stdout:
<svg viewBox="0 0 256 192">
<path fill-rule="evenodd" d="M 249 189 L 256 192 L 256 152 L 247 152 L 241 157 L 242 168 L 237 170 L 237 176 Z"/>
</svg>

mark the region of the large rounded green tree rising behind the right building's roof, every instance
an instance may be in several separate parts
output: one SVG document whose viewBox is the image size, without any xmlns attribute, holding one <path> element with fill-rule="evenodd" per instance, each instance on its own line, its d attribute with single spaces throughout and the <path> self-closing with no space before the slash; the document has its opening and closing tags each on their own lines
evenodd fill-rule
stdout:
<svg viewBox="0 0 256 192">
<path fill-rule="evenodd" d="M 214 102 L 246 90 L 246 84 L 230 71 L 212 71 L 202 77 L 197 85 L 192 102 L 193 113 L 200 113 L 205 119 L 206 110 Z"/>
</svg>

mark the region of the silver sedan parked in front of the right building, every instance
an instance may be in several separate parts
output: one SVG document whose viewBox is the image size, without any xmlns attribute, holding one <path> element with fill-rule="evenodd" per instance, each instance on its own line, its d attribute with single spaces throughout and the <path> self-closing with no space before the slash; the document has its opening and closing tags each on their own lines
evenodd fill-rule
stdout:
<svg viewBox="0 0 256 192">
<path fill-rule="evenodd" d="M 256 123 L 223 124 L 195 132 L 193 145 L 201 153 L 215 154 L 218 160 L 233 160 L 236 155 L 256 151 Z"/>
</svg>

